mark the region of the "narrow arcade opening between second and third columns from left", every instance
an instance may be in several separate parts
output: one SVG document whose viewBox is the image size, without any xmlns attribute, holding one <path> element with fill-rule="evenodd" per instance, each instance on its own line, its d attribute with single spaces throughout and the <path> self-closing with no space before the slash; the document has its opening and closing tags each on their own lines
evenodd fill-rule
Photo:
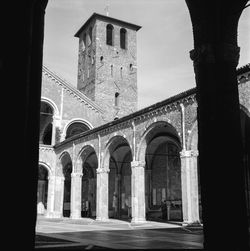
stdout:
<svg viewBox="0 0 250 251">
<path fill-rule="evenodd" d="M 80 158 L 82 160 L 81 217 L 95 218 L 97 155 L 93 147 L 87 146 Z"/>
</svg>

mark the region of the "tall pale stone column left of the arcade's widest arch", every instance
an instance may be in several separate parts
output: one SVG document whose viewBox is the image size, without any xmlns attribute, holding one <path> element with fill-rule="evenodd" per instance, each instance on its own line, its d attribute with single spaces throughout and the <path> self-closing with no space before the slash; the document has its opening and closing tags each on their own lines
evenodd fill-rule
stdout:
<svg viewBox="0 0 250 251">
<path fill-rule="evenodd" d="M 131 162 L 132 222 L 145 222 L 145 162 Z"/>
</svg>

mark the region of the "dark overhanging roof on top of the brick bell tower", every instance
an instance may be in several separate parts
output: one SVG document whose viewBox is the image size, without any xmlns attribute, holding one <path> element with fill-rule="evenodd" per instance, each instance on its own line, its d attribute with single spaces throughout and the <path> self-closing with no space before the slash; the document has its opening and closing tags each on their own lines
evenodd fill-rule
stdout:
<svg viewBox="0 0 250 251">
<path fill-rule="evenodd" d="M 125 22 L 125 21 L 122 21 L 122 20 L 119 20 L 119 19 L 116 19 L 116 18 L 113 18 L 113 17 L 101 15 L 101 14 L 98 14 L 98 13 L 94 12 L 90 16 L 90 18 L 82 25 L 82 27 L 76 32 L 76 34 L 74 36 L 79 37 L 80 33 L 90 24 L 90 22 L 92 20 L 96 20 L 96 19 L 107 21 L 107 22 L 112 22 L 112 23 L 117 23 L 117 24 L 129 27 L 131 29 L 134 29 L 136 31 L 138 31 L 141 28 L 141 26 L 139 26 L 139 25 L 128 23 L 128 22 Z"/>
</svg>

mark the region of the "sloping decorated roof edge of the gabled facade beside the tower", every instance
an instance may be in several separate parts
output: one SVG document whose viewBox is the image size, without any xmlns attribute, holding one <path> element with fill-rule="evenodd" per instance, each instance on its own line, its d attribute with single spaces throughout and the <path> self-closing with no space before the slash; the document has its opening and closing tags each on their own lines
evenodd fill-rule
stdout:
<svg viewBox="0 0 250 251">
<path fill-rule="evenodd" d="M 77 90 L 75 87 L 73 87 L 71 84 L 67 83 L 66 80 L 63 80 L 60 78 L 56 73 L 49 70 L 46 66 L 43 65 L 43 71 L 49 74 L 52 78 L 54 78 L 56 81 L 58 81 L 60 84 L 62 84 L 66 89 L 70 90 L 74 93 L 74 95 L 78 96 L 84 103 L 87 103 L 90 107 L 97 110 L 98 112 L 103 113 L 103 109 L 97 105 L 93 100 L 85 96 L 83 93 L 81 93 L 79 90 Z"/>
</svg>

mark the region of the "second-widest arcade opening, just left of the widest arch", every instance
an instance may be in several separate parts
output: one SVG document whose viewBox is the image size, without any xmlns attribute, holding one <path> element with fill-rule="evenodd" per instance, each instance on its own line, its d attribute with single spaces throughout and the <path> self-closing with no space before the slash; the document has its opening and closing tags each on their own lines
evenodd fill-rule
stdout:
<svg viewBox="0 0 250 251">
<path fill-rule="evenodd" d="M 109 218 L 131 219 L 132 152 L 126 139 L 115 136 L 108 147 Z"/>
</svg>

